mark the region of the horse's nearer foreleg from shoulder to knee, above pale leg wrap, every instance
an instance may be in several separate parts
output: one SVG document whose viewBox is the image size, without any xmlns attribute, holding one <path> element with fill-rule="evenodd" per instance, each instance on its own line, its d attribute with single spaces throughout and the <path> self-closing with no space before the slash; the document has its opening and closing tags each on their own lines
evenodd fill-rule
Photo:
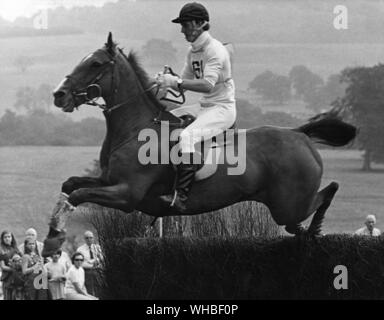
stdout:
<svg viewBox="0 0 384 320">
<path fill-rule="evenodd" d="M 85 202 L 91 202 L 125 212 L 133 211 L 139 200 L 137 196 L 133 195 L 127 183 L 98 188 L 81 188 L 73 191 L 68 197 L 68 202 L 75 207 Z"/>
</svg>

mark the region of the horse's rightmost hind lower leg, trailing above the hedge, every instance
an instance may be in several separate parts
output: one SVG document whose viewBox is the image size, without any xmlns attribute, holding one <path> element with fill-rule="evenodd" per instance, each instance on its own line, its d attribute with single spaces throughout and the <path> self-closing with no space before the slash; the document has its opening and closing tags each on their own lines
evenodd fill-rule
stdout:
<svg viewBox="0 0 384 320">
<path fill-rule="evenodd" d="M 313 212 L 316 210 L 316 212 L 313 215 L 311 224 L 307 229 L 308 235 L 317 236 L 321 234 L 321 226 L 325 212 L 331 205 L 333 197 L 335 196 L 338 189 L 339 184 L 337 182 L 331 182 L 327 187 L 325 187 L 316 195 L 315 201 L 310 211 Z"/>
</svg>

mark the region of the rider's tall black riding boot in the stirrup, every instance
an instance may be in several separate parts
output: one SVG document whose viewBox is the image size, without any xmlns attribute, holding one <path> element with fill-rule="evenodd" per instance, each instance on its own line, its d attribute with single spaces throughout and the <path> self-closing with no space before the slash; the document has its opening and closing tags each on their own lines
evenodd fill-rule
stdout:
<svg viewBox="0 0 384 320">
<path fill-rule="evenodd" d="M 187 209 L 185 202 L 188 199 L 188 193 L 191 190 L 195 172 L 198 167 L 197 164 L 193 164 L 192 154 L 190 159 L 190 164 L 180 163 L 177 166 L 177 179 L 174 194 L 160 197 L 164 202 L 168 203 L 170 207 L 173 207 L 181 213 L 185 212 Z"/>
</svg>

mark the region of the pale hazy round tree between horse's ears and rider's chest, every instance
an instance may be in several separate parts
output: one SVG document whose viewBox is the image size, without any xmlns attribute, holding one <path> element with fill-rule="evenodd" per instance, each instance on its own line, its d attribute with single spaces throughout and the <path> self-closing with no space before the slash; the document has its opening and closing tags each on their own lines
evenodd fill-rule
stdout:
<svg viewBox="0 0 384 320">
<path fill-rule="evenodd" d="M 177 49 L 173 47 L 171 41 L 163 39 L 150 39 L 143 46 L 144 57 L 152 66 L 175 65 L 177 62 Z"/>
</svg>

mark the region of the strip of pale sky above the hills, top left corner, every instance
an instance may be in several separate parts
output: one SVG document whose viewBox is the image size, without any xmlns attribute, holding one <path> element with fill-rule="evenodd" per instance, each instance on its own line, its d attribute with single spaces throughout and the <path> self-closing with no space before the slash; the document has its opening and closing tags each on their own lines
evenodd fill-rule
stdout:
<svg viewBox="0 0 384 320">
<path fill-rule="evenodd" d="M 106 2 L 117 2 L 117 0 L 0 0 L 0 16 L 14 21 L 17 17 L 29 17 L 41 9 L 59 6 L 66 8 L 85 5 L 101 6 Z"/>
</svg>

